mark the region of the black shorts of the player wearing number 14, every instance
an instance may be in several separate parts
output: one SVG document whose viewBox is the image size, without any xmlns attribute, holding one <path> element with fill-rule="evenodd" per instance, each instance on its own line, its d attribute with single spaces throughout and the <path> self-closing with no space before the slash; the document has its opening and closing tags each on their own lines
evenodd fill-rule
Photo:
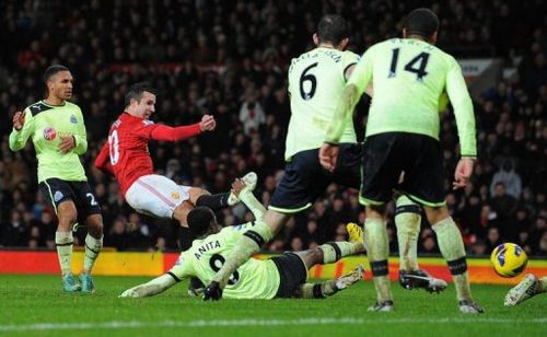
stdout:
<svg viewBox="0 0 547 337">
<path fill-rule="evenodd" d="M 399 185 L 401 172 L 405 177 Z M 361 204 L 386 202 L 393 189 L 420 205 L 439 207 L 445 202 L 446 170 L 441 143 L 434 138 L 406 132 L 368 137 L 362 173 Z"/>
</svg>

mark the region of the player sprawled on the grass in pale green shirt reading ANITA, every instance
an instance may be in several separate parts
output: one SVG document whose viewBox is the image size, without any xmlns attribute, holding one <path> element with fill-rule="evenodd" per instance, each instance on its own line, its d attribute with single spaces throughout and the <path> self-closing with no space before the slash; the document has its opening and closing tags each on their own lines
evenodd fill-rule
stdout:
<svg viewBox="0 0 547 337">
<path fill-rule="evenodd" d="M 257 220 L 266 209 L 244 183 L 236 181 L 235 194 Z M 255 225 L 254 221 L 222 229 L 214 212 L 207 207 L 196 207 L 188 213 L 188 226 L 199 237 L 181 254 L 175 266 L 148 283 L 124 291 L 120 298 L 144 298 L 159 294 L 175 286 L 183 278 L 198 277 L 205 284 L 222 267 L 225 255 L 237 240 Z M 322 283 L 306 282 L 307 269 L 317 264 L 330 264 L 344 256 L 364 251 L 362 242 L 330 242 L 317 248 L 290 252 L 267 260 L 251 258 L 235 270 L 224 288 L 229 299 L 304 298 L 323 299 L 361 280 L 364 269 L 358 266 L 352 272 Z"/>
</svg>

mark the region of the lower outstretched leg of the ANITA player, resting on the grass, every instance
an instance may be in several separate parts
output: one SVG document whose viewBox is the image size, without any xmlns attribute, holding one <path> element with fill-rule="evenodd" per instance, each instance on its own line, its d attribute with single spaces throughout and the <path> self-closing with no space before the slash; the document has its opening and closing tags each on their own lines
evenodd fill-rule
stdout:
<svg viewBox="0 0 547 337">
<path fill-rule="evenodd" d="M 301 299 L 326 299 L 341 290 L 348 289 L 363 278 L 364 268 L 359 265 L 351 272 L 342 275 L 337 279 L 321 283 L 304 283 L 294 292 L 294 297 Z"/>
</svg>

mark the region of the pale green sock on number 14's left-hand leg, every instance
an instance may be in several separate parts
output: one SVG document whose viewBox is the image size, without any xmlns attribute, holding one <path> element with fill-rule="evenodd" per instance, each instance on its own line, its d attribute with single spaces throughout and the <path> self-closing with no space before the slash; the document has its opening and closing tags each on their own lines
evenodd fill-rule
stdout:
<svg viewBox="0 0 547 337">
<path fill-rule="evenodd" d="M 371 264 L 374 288 L 376 289 L 379 303 L 392 301 L 392 289 L 389 286 L 387 257 L 389 245 L 385 223 L 381 219 L 366 219 L 364 221 L 364 241 L 366 255 Z"/>
</svg>

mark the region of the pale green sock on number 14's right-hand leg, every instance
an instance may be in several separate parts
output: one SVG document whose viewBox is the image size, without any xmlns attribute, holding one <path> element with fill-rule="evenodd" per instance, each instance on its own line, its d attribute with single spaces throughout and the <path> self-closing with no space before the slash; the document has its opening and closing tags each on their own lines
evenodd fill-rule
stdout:
<svg viewBox="0 0 547 337">
<path fill-rule="evenodd" d="M 437 234 L 439 249 L 449 265 L 454 279 L 457 299 L 459 301 L 472 301 L 472 289 L 469 275 L 467 272 L 467 260 L 465 258 L 465 246 L 462 234 L 451 217 L 432 225 Z"/>
</svg>

